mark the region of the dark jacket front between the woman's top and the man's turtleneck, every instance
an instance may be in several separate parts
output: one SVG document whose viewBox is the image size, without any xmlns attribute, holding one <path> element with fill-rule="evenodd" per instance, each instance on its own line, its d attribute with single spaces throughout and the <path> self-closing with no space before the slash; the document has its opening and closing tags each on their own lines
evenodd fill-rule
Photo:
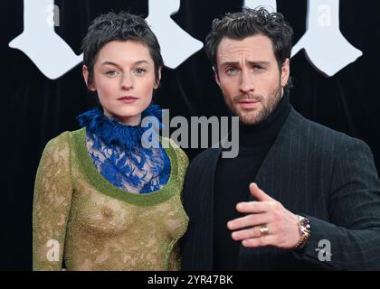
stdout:
<svg viewBox="0 0 380 289">
<path fill-rule="evenodd" d="M 214 178 L 222 149 L 206 150 L 187 172 L 184 207 L 189 225 L 181 239 L 183 270 L 214 268 Z"/>
</svg>

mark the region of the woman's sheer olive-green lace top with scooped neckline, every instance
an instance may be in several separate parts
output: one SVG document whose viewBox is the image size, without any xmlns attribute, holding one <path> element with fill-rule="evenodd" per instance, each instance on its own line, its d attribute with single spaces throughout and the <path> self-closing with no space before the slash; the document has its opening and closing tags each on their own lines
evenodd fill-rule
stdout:
<svg viewBox="0 0 380 289">
<path fill-rule="evenodd" d="M 123 191 L 93 165 L 86 130 L 64 132 L 43 151 L 33 199 L 33 270 L 179 270 L 188 217 L 181 192 L 188 159 L 161 139 L 169 180 L 147 194 Z"/>
</svg>

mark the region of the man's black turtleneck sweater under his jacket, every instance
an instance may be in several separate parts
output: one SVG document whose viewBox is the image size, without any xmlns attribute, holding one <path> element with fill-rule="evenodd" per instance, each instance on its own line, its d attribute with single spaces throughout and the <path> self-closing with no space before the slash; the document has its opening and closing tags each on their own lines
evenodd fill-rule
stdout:
<svg viewBox="0 0 380 289">
<path fill-rule="evenodd" d="M 289 114 L 290 99 L 285 93 L 266 120 L 258 125 L 240 124 L 238 156 L 230 159 L 221 157 L 218 161 L 214 186 L 214 270 L 237 268 L 241 242 L 233 240 L 227 222 L 243 217 L 235 206 L 248 200 L 249 184 L 254 181 Z"/>
</svg>

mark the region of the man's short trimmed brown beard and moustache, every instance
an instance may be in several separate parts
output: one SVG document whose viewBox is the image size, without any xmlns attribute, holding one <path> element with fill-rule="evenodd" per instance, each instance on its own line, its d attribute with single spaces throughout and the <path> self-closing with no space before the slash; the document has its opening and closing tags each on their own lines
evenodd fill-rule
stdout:
<svg viewBox="0 0 380 289">
<path fill-rule="evenodd" d="M 272 111 L 277 107 L 281 99 L 282 89 L 280 85 L 271 91 L 267 98 L 264 98 L 262 95 L 247 95 L 240 94 L 236 97 L 233 97 L 233 100 L 226 99 L 224 101 L 233 110 L 233 112 L 239 117 L 240 121 L 246 125 L 257 125 L 262 121 L 267 119 Z M 253 101 L 259 101 L 261 106 L 255 109 L 239 109 L 239 102 L 244 99 L 250 99 Z"/>
</svg>

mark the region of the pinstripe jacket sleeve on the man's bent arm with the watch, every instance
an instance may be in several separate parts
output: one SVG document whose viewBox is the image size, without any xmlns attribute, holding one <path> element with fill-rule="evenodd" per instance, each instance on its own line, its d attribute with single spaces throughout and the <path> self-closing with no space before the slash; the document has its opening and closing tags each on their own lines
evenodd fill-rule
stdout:
<svg viewBox="0 0 380 289">
<path fill-rule="evenodd" d="M 380 181 L 368 145 L 351 140 L 335 153 L 329 221 L 306 216 L 311 236 L 295 255 L 332 269 L 380 269 Z"/>
</svg>

